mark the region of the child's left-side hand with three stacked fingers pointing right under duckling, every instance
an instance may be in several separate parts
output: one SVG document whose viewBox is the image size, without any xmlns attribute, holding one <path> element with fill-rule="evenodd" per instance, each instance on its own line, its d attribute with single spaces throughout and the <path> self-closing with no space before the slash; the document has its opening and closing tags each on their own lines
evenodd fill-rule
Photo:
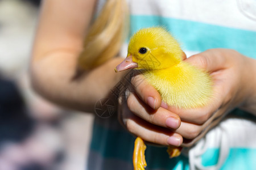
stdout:
<svg viewBox="0 0 256 170">
<path fill-rule="evenodd" d="M 130 92 L 127 102 L 122 102 L 119 120 L 127 130 L 147 142 L 180 146 L 183 138 L 174 132 L 180 126 L 180 117 L 160 107 L 158 91 L 142 79 L 142 75 L 137 75 L 131 80 L 135 92 Z"/>
</svg>

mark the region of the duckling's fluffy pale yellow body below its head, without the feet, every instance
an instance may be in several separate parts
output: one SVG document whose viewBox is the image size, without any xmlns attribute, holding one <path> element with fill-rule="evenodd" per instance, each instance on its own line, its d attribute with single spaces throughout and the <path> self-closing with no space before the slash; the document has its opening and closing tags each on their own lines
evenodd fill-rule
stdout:
<svg viewBox="0 0 256 170">
<path fill-rule="evenodd" d="M 212 95 L 210 76 L 192 66 L 149 71 L 144 76 L 162 100 L 175 107 L 201 107 Z"/>
</svg>

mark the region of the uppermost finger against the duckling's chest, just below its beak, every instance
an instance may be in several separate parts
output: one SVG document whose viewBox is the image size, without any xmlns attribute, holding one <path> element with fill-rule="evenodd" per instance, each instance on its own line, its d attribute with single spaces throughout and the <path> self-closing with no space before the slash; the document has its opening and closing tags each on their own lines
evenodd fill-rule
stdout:
<svg viewBox="0 0 256 170">
<path fill-rule="evenodd" d="M 143 75 L 136 75 L 131 79 L 136 94 L 141 100 L 148 104 L 152 109 L 158 109 L 161 105 L 161 96 L 159 92 L 148 84 Z"/>
</svg>

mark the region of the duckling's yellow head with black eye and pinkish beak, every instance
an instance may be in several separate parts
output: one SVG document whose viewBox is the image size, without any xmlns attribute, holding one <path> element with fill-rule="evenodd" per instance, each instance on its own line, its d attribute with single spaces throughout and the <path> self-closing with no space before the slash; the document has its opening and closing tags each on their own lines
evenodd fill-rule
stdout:
<svg viewBox="0 0 256 170">
<path fill-rule="evenodd" d="M 179 43 L 166 29 L 143 28 L 131 37 L 127 57 L 115 71 L 166 69 L 181 62 L 183 54 Z"/>
</svg>

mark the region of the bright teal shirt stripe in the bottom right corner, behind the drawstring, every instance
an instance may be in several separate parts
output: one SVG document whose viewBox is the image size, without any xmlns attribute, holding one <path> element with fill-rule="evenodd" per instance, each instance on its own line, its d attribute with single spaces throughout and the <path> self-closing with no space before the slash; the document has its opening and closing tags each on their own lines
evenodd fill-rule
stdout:
<svg viewBox="0 0 256 170">
<path fill-rule="evenodd" d="M 204 167 L 216 165 L 218 148 L 208 148 L 201 156 Z M 254 169 L 256 167 L 256 148 L 230 148 L 228 158 L 221 169 Z"/>
</svg>

